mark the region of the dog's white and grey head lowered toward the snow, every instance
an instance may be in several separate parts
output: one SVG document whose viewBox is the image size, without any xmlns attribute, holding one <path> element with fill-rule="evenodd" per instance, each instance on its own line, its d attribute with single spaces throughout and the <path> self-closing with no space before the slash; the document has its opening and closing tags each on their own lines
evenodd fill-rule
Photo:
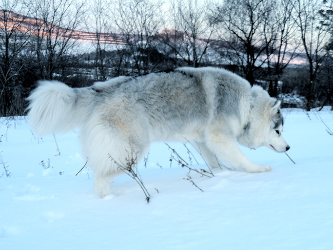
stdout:
<svg viewBox="0 0 333 250">
<path fill-rule="evenodd" d="M 269 97 L 262 88 L 257 88 L 255 92 L 249 122 L 238 138 L 239 143 L 250 148 L 267 146 L 275 152 L 286 152 L 290 146 L 281 135 L 283 126 L 281 102 Z"/>
</svg>

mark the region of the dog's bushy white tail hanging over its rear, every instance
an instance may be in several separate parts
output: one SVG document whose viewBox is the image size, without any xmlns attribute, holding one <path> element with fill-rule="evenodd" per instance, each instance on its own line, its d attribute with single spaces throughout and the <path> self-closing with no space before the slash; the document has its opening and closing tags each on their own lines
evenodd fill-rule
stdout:
<svg viewBox="0 0 333 250">
<path fill-rule="evenodd" d="M 65 83 L 40 81 L 27 100 L 29 124 L 38 136 L 68 132 L 79 123 L 76 92 Z"/>
</svg>

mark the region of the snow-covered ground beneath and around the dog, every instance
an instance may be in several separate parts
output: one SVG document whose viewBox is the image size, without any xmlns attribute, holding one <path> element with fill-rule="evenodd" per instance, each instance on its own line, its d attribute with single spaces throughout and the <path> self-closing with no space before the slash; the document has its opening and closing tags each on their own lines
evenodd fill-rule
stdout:
<svg viewBox="0 0 333 250">
<path fill-rule="evenodd" d="M 24 117 L 0 118 L 0 249 L 331 250 L 333 135 L 325 124 L 333 130 L 333 112 L 284 116 L 296 164 L 268 148 L 242 148 L 273 170 L 191 172 L 203 192 L 185 180 L 188 169 L 170 167 L 166 145 L 153 144 L 138 167 L 149 203 L 127 175 L 111 185 L 114 195 L 98 199 L 92 171 L 78 173 L 85 159 L 77 132 L 35 138 Z M 170 146 L 189 161 L 182 144 Z M 193 167 L 207 169 L 195 155 Z"/>
</svg>

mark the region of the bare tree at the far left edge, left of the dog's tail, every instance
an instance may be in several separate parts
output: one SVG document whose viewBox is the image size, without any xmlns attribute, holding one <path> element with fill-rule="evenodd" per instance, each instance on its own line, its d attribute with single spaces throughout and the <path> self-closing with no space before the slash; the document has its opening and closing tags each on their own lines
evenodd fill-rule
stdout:
<svg viewBox="0 0 333 250">
<path fill-rule="evenodd" d="M 25 65 L 25 49 L 30 34 L 27 17 L 19 0 L 0 1 L 0 115 L 18 115 L 24 111 L 22 87 L 18 76 Z"/>
</svg>

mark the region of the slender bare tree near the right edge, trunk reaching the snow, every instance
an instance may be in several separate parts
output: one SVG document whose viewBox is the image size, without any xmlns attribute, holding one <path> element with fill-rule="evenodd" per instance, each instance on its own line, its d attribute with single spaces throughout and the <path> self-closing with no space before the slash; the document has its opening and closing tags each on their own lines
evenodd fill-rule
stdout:
<svg viewBox="0 0 333 250">
<path fill-rule="evenodd" d="M 307 109 L 313 107 L 314 90 L 322 62 L 327 58 L 330 44 L 330 27 L 332 19 L 325 19 L 322 15 L 333 2 L 323 0 L 289 0 L 293 6 L 292 16 L 298 26 L 302 48 L 309 64 L 309 82 L 305 84 L 307 89 Z"/>
</svg>

